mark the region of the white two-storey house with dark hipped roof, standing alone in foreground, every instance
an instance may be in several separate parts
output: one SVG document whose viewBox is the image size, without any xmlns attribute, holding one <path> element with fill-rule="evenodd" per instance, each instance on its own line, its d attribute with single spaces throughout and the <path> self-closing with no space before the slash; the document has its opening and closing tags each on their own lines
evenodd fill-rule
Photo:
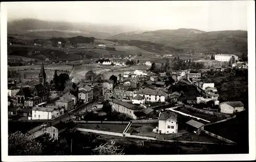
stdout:
<svg viewBox="0 0 256 162">
<path fill-rule="evenodd" d="M 160 112 L 158 120 L 158 133 L 171 134 L 178 133 L 177 114 L 173 111 Z"/>
</svg>

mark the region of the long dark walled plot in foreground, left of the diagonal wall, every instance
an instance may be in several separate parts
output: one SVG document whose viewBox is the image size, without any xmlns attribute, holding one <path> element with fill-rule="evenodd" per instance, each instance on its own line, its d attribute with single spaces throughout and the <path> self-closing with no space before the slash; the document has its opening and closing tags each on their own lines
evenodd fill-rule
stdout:
<svg viewBox="0 0 256 162">
<path fill-rule="evenodd" d="M 95 127 L 99 126 L 99 129 Z M 94 130 L 101 130 L 101 131 L 111 131 L 122 133 L 126 128 L 127 124 L 78 124 L 77 128 L 86 128 L 86 129 L 94 129 Z"/>
</svg>

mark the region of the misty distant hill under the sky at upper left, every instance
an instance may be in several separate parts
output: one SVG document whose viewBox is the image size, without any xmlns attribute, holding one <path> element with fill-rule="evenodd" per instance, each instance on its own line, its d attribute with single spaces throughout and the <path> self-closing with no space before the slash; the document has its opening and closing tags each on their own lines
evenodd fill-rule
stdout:
<svg viewBox="0 0 256 162">
<path fill-rule="evenodd" d="M 12 20 L 7 22 L 8 34 L 23 34 L 40 37 L 75 37 L 77 35 L 106 38 L 111 35 L 136 30 L 127 26 L 110 26 L 91 24 L 88 22 L 74 23 L 63 21 L 46 21 L 33 18 Z"/>
</svg>

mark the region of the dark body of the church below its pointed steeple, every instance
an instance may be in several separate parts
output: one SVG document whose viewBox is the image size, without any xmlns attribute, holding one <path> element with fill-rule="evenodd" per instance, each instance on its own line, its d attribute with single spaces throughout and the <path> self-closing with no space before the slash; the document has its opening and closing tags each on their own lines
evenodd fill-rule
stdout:
<svg viewBox="0 0 256 162">
<path fill-rule="evenodd" d="M 33 107 L 48 99 L 47 89 L 41 84 L 22 86 L 13 100 L 14 107 Z"/>
</svg>

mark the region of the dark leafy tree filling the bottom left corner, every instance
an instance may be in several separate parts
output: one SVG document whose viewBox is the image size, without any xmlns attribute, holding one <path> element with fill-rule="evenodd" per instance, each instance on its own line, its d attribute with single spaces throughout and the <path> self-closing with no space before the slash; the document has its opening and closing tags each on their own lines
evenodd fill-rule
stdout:
<svg viewBox="0 0 256 162">
<path fill-rule="evenodd" d="M 40 155 L 41 153 L 42 145 L 32 136 L 20 131 L 8 135 L 9 155 Z"/>
</svg>

